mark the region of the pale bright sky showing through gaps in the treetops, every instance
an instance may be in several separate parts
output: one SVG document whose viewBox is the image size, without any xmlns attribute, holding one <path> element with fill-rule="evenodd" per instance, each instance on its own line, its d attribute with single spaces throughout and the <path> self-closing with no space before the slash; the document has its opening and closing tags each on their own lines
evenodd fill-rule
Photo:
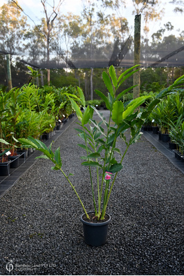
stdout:
<svg viewBox="0 0 184 276">
<path fill-rule="evenodd" d="M 53 3 L 53 0 L 49 0 L 50 3 Z M 64 0 L 60 11 L 62 14 L 66 14 L 67 12 L 72 12 L 73 14 L 81 15 L 82 10 L 82 2 L 84 0 Z M 96 1 L 96 0 L 93 0 Z M 172 33 L 177 34 L 177 30 L 183 30 L 183 17 L 184 14 L 176 14 L 173 12 L 174 5 L 169 3 L 171 0 L 160 0 L 160 7 L 165 8 L 165 15 L 162 21 L 156 21 L 153 23 L 149 23 L 149 36 L 163 27 L 164 23 L 170 21 L 174 26 L 174 30 Z M 7 3 L 8 0 L 0 0 L 0 6 L 3 3 Z M 39 23 L 39 19 L 44 17 L 43 6 L 40 0 L 18 0 L 19 5 L 23 8 L 24 12 L 29 15 L 31 19 L 35 21 L 35 23 Z M 57 0 L 55 0 L 57 3 Z M 134 29 L 134 15 L 132 15 L 132 0 L 127 0 L 127 8 L 124 9 L 122 15 L 127 18 L 129 22 L 130 30 Z M 28 19 L 28 23 L 33 23 Z M 143 22 L 142 22 L 143 27 Z M 165 33 L 166 34 L 166 33 Z"/>
</svg>

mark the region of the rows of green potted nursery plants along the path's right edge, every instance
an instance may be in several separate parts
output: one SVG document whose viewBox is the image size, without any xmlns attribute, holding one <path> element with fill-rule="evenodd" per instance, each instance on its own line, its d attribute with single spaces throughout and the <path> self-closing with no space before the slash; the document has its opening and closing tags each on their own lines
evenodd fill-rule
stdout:
<svg viewBox="0 0 184 276">
<path fill-rule="evenodd" d="M 158 139 L 168 143 L 175 157 L 184 161 L 184 93 L 178 91 L 160 101 L 142 130 L 152 130 Z"/>
</svg>

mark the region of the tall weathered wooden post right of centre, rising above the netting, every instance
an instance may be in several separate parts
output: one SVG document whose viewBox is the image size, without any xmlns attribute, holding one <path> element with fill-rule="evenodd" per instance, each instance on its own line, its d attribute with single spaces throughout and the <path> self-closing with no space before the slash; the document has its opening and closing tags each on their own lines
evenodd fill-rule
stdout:
<svg viewBox="0 0 184 276">
<path fill-rule="evenodd" d="M 134 30 L 134 65 L 140 64 L 140 21 L 141 15 L 135 16 L 135 30 Z M 134 70 L 138 67 L 134 68 Z M 136 86 L 137 85 L 137 86 Z M 133 99 L 140 96 L 140 70 L 134 74 L 134 90 Z"/>
</svg>

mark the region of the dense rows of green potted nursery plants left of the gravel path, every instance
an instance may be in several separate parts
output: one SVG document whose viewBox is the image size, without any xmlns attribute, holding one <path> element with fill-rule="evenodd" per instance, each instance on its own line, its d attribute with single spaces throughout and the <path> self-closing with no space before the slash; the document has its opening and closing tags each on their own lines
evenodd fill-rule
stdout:
<svg viewBox="0 0 184 276">
<path fill-rule="evenodd" d="M 6 165 L 10 159 L 12 167 L 19 166 L 19 155 L 25 157 L 28 154 L 19 148 L 17 139 L 28 136 L 49 139 L 68 117 L 73 116 L 66 92 L 78 95 L 77 89 L 72 86 L 56 89 L 29 84 L 8 92 L 0 90 L 0 164 L 3 168 L 0 175 L 9 174 L 10 168 Z"/>
</svg>

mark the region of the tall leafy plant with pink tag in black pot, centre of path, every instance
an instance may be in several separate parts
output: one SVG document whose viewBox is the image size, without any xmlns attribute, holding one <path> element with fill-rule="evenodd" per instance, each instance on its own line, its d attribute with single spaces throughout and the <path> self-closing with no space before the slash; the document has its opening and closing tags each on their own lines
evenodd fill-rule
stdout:
<svg viewBox="0 0 184 276">
<path fill-rule="evenodd" d="M 66 177 L 68 184 L 71 185 L 73 191 L 80 201 L 80 204 L 84 210 L 84 214 L 81 217 L 83 228 L 84 228 L 84 240 L 87 244 L 91 246 L 100 246 L 106 242 L 107 239 L 107 229 L 111 217 L 107 214 L 107 205 L 109 204 L 109 199 L 111 196 L 111 191 L 113 185 L 116 183 L 116 177 L 118 172 L 122 169 L 122 161 L 129 149 L 131 144 L 134 144 L 141 135 L 142 124 L 154 109 L 156 104 L 158 104 L 165 95 L 172 92 L 172 89 L 177 86 L 181 86 L 184 82 L 184 77 L 177 79 L 175 83 L 161 91 L 149 105 L 142 112 L 138 111 L 138 106 L 144 103 L 150 96 L 142 96 L 137 99 L 132 100 L 125 107 L 122 101 L 119 101 L 127 90 L 120 92 L 116 96 L 116 90 L 120 88 L 121 84 L 131 75 L 134 74 L 137 66 L 129 68 L 123 72 L 120 77 L 116 77 L 116 71 L 111 66 L 109 68 L 109 75 L 107 72 L 103 72 L 103 80 L 107 89 L 109 90 L 108 96 L 106 97 L 99 90 L 95 90 L 97 95 L 105 102 L 107 109 L 109 110 L 109 121 L 103 117 L 103 115 L 94 107 L 87 106 L 84 99 L 84 94 L 80 88 L 78 92 L 80 98 L 67 95 L 70 99 L 73 109 L 75 110 L 77 117 L 80 121 L 77 132 L 79 136 L 84 141 L 83 144 L 79 146 L 86 150 L 86 155 L 82 157 L 82 166 L 89 168 L 89 178 L 91 179 L 91 192 L 93 200 L 93 212 L 88 212 L 78 195 L 75 185 L 71 183 L 69 176 L 66 175 L 62 169 L 62 159 L 60 157 L 59 148 L 53 152 L 51 145 L 46 147 L 42 141 L 34 139 L 33 137 L 28 137 L 28 139 L 18 139 L 24 146 L 30 146 L 44 153 L 37 158 L 45 158 L 53 161 L 53 170 L 60 170 L 62 175 Z M 131 90 L 129 88 L 129 90 Z M 80 106 L 77 105 L 76 101 L 80 101 L 84 112 L 80 110 Z M 93 119 L 93 112 L 96 112 L 100 117 L 100 123 Z M 130 139 L 126 138 L 125 132 L 130 131 Z M 125 142 L 126 148 L 124 152 L 121 152 L 119 148 L 116 147 L 117 139 L 122 139 Z M 119 155 L 120 158 L 117 158 Z M 118 161 L 119 159 L 119 161 Z M 96 170 L 95 182 L 91 176 L 91 168 Z M 97 193 L 95 193 L 97 189 Z M 95 198 L 95 195 L 98 195 Z M 97 230 L 96 230 L 97 228 Z M 89 231 L 86 233 L 85 231 Z"/>
</svg>

